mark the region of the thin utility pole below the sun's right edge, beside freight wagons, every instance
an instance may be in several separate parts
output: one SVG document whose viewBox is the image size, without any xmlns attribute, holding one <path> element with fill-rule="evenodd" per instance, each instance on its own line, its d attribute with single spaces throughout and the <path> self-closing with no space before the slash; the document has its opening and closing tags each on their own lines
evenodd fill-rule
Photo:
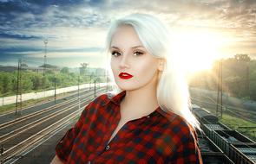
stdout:
<svg viewBox="0 0 256 164">
<path fill-rule="evenodd" d="M 218 91 L 217 91 L 217 105 L 216 105 L 216 116 L 222 118 L 223 102 L 222 102 L 222 60 L 218 66 Z"/>
</svg>

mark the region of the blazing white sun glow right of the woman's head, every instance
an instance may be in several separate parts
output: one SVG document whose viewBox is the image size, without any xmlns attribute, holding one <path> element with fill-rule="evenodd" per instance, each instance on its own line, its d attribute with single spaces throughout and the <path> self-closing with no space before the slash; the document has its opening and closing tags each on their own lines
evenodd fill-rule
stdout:
<svg viewBox="0 0 256 164">
<path fill-rule="evenodd" d="M 171 51 L 186 73 L 211 69 L 219 56 L 221 38 L 210 32 L 180 31 L 171 35 Z"/>
</svg>

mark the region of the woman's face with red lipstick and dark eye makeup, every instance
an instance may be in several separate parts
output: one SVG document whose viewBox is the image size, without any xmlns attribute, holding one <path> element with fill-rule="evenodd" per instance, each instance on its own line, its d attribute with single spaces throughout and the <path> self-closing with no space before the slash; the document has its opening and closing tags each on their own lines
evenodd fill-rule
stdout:
<svg viewBox="0 0 256 164">
<path fill-rule="evenodd" d="M 117 28 L 112 37 L 110 52 L 115 83 L 121 90 L 133 91 L 156 85 L 159 60 L 143 47 L 134 28 Z"/>
</svg>

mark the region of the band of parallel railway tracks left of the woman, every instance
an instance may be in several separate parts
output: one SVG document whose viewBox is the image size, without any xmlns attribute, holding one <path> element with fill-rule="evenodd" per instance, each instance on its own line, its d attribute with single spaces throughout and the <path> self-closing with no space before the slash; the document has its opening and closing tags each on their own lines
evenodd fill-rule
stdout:
<svg viewBox="0 0 256 164">
<path fill-rule="evenodd" d="M 102 91 L 105 89 L 98 90 L 98 93 Z M 84 106 L 94 98 L 94 92 L 88 92 L 80 98 L 83 99 L 80 105 Z M 1 124 L 0 146 L 3 146 L 4 151 L 0 155 L 0 163 L 11 163 L 37 142 L 42 142 L 43 138 L 51 136 L 81 113 L 81 109 L 78 109 L 80 105 L 77 98 L 71 98 L 61 104 Z"/>
</svg>

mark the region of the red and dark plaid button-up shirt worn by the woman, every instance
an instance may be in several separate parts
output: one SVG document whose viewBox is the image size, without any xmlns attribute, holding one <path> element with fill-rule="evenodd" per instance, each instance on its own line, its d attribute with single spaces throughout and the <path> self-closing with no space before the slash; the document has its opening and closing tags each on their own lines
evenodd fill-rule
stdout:
<svg viewBox="0 0 256 164">
<path fill-rule="evenodd" d="M 180 116 L 157 108 L 129 121 L 108 143 L 125 91 L 95 98 L 56 145 L 64 163 L 202 163 L 194 129 Z"/>
</svg>

